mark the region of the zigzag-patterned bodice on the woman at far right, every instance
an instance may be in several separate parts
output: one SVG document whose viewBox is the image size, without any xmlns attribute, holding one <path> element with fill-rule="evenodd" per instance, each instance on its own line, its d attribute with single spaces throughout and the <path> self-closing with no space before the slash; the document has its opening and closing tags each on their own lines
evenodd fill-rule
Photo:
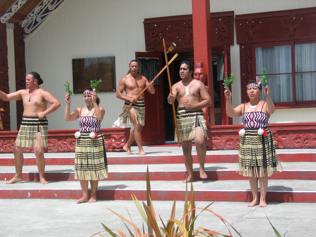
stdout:
<svg viewBox="0 0 316 237">
<path fill-rule="evenodd" d="M 264 112 L 248 112 L 241 116 L 244 128 L 265 128 L 268 126 L 269 115 Z"/>
</svg>

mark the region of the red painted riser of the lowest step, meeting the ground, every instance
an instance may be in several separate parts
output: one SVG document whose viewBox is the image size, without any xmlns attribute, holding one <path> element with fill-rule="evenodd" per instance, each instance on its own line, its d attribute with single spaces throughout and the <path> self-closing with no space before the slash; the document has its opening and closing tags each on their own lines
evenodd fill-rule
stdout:
<svg viewBox="0 0 316 237">
<path fill-rule="evenodd" d="M 97 197 L 100 200 L 131 200 L 131 193 L 140 200 L 146 200 L 146 190 L 98 190 Z M 189 192 L 190 193 L 190 192 Z M 184 200 L 185 191 L 173 190 L 151 190 L 152 200 Z M 194 191 L 196 201 L 235 201 L 250 202 L 251 191 Z M 0 198 L 63 198 L 75 199 L 82 196 L 78 190 L 0 190 Z M 294 192 L 294 191 L 267 191 L 267 202 L 301 202 L 315 203 L 316 192 Z"/>
</svg>

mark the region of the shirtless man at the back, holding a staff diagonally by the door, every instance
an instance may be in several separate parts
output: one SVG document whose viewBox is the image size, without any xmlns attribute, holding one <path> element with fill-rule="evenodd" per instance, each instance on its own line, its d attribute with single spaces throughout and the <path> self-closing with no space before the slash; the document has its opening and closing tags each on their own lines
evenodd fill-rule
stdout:
<svg viewBox="0 0 316 237">
<path fill-rule="evenodd" d="M 141 131 L 145 125 L 145 97 L 142 94 L 138 99 L 136 97 L 143 91 L 143 89 L 149 85 L 147 90 L 150 94 L 155 94 L 154 82 L 149 82 L 148 79 L 138 74 L 139 64 L 136 60 L 132 60 L 128 66 L 130 72 L 121 79 L 119 82 L 119 88 L 116 92 L 116 97 L 125 100 L 125 106 L 133 105 L 130 107 L 130 111 L 125 112 L 120 117 L 120 122 L 124 124 L 133 124 L 134 130 L 131 132 L 130 138 L 123 147 L 128 154 L 131 153 L 131 144 L 136 141 L 139 155 L 146 155 L 142 146 Z M 125 91 L 126 95 L 123 94 Z"/>
</svg>

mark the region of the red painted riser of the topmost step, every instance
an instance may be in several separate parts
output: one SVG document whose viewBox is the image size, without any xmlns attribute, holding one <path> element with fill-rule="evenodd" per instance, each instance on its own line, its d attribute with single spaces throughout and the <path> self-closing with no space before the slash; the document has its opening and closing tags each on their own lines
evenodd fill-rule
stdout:
<svg viewBox="0 0 316 237">
<path fill-rule="evenodd" d="M 283 162 L 316 162 L 316 153 L 278 154 Z M 198 163 L 197 155 L 192 155 L 193 163 Z M 73 165 L 74 157 L 45 158 L 46 165 Z M 108 164 L 181 164 L 182 155 L 108 157 Z M 206 155 L 205 163 L 236 163 L 237 154 Z M 14 158 L 1 158 L 0 166 L 14 165 Z M 24 158 L 24 165 L 36 165 L 35 158 Z"/>
</svg>

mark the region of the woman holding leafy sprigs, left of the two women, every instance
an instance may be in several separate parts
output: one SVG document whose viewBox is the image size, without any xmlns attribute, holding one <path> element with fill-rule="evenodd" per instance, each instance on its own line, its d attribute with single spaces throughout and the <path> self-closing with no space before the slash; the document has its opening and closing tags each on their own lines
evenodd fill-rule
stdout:
<svg viewBox="0 0 316 237">
<path fill-rule="evenodd" d="M 65 100 L 68 106 L 65 110 L 65 121 L 70 122 L 78 119 L 80 130 L 75 133 L 75 179 L 80 180 L 83 196 L 76 201 L 78 203 L 94 203 L 96 191 L 100 179 L 106 179 L 107 160 L 104 137 L 100 131 L 101 121 L 105 110 L 99 107 L 100 99 L 92 90 L 87 88 L 83 92 L 83 99 L 86 106 L 76 108 L 70 113 L 71 98 L 67 93 Z M 88 180 L 91 185 L 91 197 L 88 196 Z"/>
</svg>

